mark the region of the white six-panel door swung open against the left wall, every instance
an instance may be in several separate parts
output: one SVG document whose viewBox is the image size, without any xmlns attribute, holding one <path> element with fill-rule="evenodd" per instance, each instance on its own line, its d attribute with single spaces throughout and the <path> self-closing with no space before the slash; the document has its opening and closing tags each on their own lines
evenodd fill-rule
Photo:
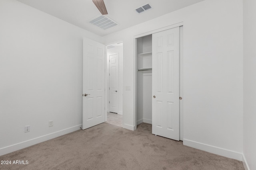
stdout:
<svg viewBox="0 0 256 170">
<path fill-rule="evenodd" d="M 105 45 L 83 38 L 82 129 L 105 121 Z"/>
</svg>

